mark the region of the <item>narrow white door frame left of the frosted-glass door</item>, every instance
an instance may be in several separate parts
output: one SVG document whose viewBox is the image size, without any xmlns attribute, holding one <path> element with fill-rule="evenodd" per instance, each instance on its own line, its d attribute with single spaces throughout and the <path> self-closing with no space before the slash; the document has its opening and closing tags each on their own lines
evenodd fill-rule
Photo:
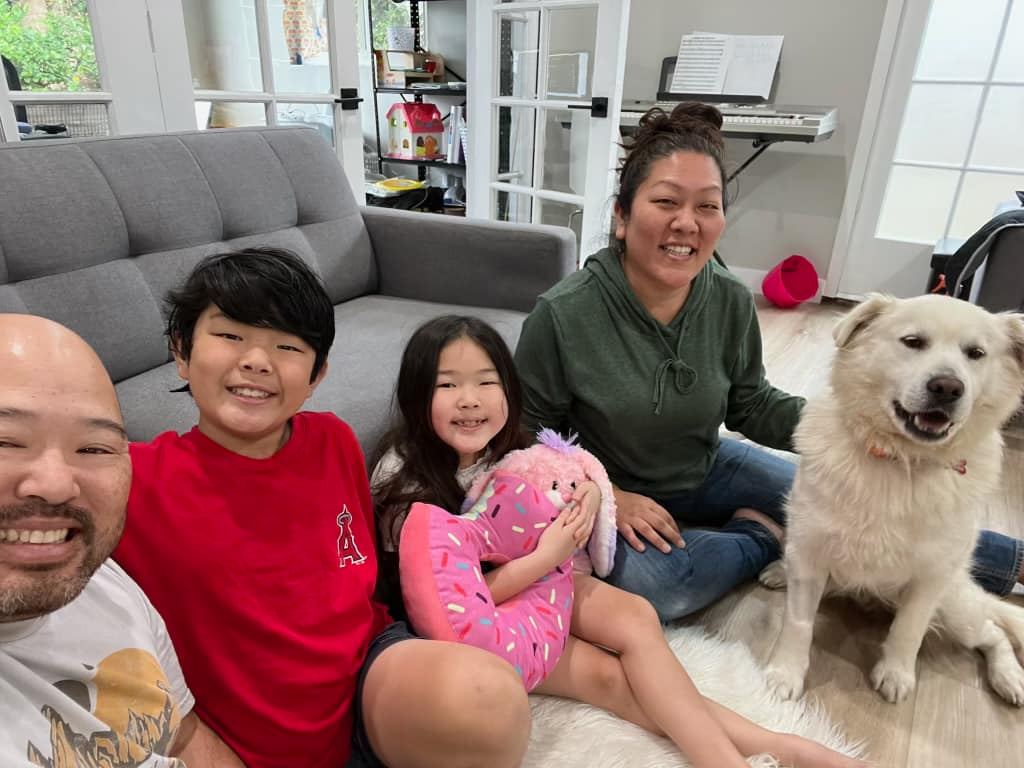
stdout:
<svg viewBox="0 0 1024 768">
<path fill-rule="evenodd" d="M 909 0 L 913 2 L 913 0 Z M 925 3 L 927 17 L 928 3 Z M 839 218 L 836 241 L 833 245 L 831 260 L 828 262 L 828 273 L 825 275 L 823 295 L 841 296 L 839 293 L 840 279 L 850 257 L 850 246 L 853 243 L 854 224 L 860 210 L 861 197 L 864 193 L 864 182 L 872 153 L 878 143 L 882 124 L 887 119 L 882 115 L 882 103 L 886 90 L 896 79 L 893 77 L 893 65 L 900 43 L 900 32 L 904 25 L 904 11 L 907 10 L 907 0 L 889 0 L 886 3 L 885 16 L 882 19 L 882 30 L 879 35 L 879 47 L 874 53 L 874 66 L 871 69 L 870 85 L 867 98 L 864 101 L 863 118 L 857 133 L 856 148 L 853 162 L 850 165 L 850 179 L 846 185 L 843 198 L 843 210 Z M 918 46 L 914 46 L 916 55 Z M 912 61 L 912 57 L 911 57 Z M 911 63 L 912 67 L 912 63 Z M 899 130 L 899 121 L 896 121 Z M 859 299 L 859 296 L 841 296 L 842 298 Z"/>
</svg>

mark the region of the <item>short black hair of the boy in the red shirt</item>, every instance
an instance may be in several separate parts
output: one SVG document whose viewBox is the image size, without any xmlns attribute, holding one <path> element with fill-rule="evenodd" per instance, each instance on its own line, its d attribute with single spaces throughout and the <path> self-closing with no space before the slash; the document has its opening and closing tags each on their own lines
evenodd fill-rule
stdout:
<svg viewBox="0 0 1024 768">
<path fill-rule="evenodd" d="M 312 383 L 334 343 L 334 306 L 324 283 L 284 248 L 245 248 L 207 256 L 169 291 L 167 340 L 187 360 L 199 316 L 211 304 L 233 321 L 298 336 L 315 352 Z"/>
</svg>

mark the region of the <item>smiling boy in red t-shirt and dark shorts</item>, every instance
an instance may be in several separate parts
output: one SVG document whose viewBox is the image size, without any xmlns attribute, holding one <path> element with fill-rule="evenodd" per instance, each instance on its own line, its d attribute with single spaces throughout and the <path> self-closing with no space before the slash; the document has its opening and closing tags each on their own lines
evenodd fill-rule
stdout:
<svg viewBox="0 0 1024 768">
<path fill-rule="evenodd" d="M 518 765 L 512 668 L 415 638 L 374 600 L 362 453 L 335 415 L 299 413 L 335 334 L 316 274 L 288 251 L 220 254 L 167 304 L 199 424 L 132 444 L 115 557 L 163 614 L 200 717 L 250 768 Z"/>
</svg>

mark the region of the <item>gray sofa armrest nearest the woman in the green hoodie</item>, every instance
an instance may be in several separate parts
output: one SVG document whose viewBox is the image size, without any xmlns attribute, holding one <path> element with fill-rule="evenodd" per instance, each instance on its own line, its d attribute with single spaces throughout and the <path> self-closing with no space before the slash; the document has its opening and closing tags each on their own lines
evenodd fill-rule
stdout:
<svg viewBox="0 0 1024 768">
<path fill-rule="evenodd" d="M 575 269 L 566 227 L 360 210 L 385 296 L 528 312 Z"/>
</svg>

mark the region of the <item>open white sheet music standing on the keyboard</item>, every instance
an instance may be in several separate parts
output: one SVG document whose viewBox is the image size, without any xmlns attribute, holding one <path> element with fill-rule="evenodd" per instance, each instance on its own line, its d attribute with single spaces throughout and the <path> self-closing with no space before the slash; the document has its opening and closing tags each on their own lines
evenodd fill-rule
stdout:
<svg viewBox="0 0 1024 768">
<path fill-rule="evenodd" d="M 782 52 L 781 35 L 694 32 L 679 42 L 675 93 L 759 96 L 767 99 Z"/>
</svg>

